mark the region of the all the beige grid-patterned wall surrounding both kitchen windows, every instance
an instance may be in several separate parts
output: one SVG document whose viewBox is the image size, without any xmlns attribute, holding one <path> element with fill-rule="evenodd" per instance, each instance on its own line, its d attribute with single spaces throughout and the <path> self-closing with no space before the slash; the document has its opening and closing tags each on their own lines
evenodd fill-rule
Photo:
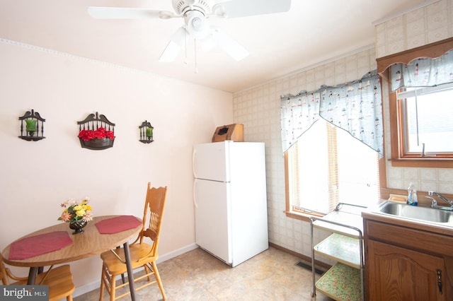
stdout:
<svg viewBox="0 0 453 301">
<path fill-rule="evenodd" d="M 383 43 L 378 39 L 376 45 L 370 45 L 368 49 L 357 50 L 356 53 L 347 54 L 342 58 L 323 61 L 316 66 L 288 74 L 275 81 L 234 93 L 234 122 L 244 124 L 246 141 L 264 141 L 266 145 L 270 242 L 299 254 L 311 256 L 309 223 L 287 218 L 284 213 L 285 178 L 280 137 L 280 95 L 296 94 L 301 90 L 314 90 L 322 84 L 344 83 L 361 78 L 367 71 L 376 69 L 375 51 L 377 49 L 381 52 L 381 56 L 384 55 L 382 54 L 384 51 L 408 49 L 407 41 L 413 36 L 411 24 L 408 21 L 414 19 L 413 14 L 420 18 L 423 15 L 422 19 L 425 20 L 426 37 L 422 45 L 452 37 L 453 34 L 449 31 L 453 21 L 450 14 L 452 3 L 453 0 L 442 0 L 377 25 L 377 33 L 380 33 L 381 28 L 386 28 L 385 37 L 391 39 L 394 35 L 393 30 L 396 28 L 394 24 L 406 22 L 406 25 L 399 27 L 406 40 L 398 38 Z M 437 24 L 439 22 L 444 25 Z M 442 28 L 449 29 L 441 35 Z M 398 36 L 401 37 L 403 33 L 398 33 Z M 403 46 L 393 48 L 392 41 L 398 41 Z M 411 45 L 411 47 L 414 46 Z M 386 52 L 385 55 L 387 54 L 390 53 Z M 389 154 L 389 106 L 385 85 L 384 83 L 384 118 L 387 122 L 384 124 L 384 132 L 386 153 Z M 386 172 L 387 184 L 390 188 L 406 189 L 409 182 L 413 181 L 423 191 L 437 190 L 449 194 L 453 192 L 453 170 L 451 169 L 397 168 L 387 163 Z M 318 240 L 319 238 L 316 237 Z"/>
</svg>

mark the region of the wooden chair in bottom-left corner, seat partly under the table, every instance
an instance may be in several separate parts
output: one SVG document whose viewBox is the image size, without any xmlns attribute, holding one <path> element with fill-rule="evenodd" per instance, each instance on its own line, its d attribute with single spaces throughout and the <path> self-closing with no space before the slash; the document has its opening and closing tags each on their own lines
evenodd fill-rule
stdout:
<svg viewBox="0 0 453 301">
<path fill-rule="evenodd" d="M 16 282 L 10 283 L 9 279 Z M 26 285 L 27 277 L 17 277 L 6 268 L 3 257 L 0 254 L 0 279 L 4 285 Z M 72 273 L 69 264 L 50 268 L 44 273 L 36 276 L 36 283 L 39 285 L 49 285 L 49 301 L 57 301 L 66 297 L 67 301 L 72 301 L 72 293 L 76 287 L 72 282 Z"/>
</svg>

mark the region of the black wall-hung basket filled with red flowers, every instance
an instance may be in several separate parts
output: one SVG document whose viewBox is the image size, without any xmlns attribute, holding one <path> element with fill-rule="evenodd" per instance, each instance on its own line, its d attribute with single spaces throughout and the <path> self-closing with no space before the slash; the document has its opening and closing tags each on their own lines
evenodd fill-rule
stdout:
<svg viewBox="0 0 453 301">
<path fill-rule="evenodd" d="M 79 124 L 79 141 L 82 148 L 104 150 L 113 147 L 115 124 L 103 114 L 89 114 Z"/>
</svg>

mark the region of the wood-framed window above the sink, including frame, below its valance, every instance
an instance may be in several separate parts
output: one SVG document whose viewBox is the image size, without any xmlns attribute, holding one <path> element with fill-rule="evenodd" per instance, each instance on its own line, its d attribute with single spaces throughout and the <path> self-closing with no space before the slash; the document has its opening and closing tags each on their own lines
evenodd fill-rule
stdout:
<svg viewBox="0 0 453 301">
<path fill-rule="evenodd" d="M 389 93 L 391 165 L 453 168 L 452 93 L 425 88 L 416 100 L 414 90 Z"/>
</svg>

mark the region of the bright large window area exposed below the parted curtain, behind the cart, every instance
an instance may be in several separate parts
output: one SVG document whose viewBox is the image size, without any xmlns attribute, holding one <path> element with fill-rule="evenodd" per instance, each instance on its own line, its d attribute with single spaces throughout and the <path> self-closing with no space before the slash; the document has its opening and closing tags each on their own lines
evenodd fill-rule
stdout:
<svg viewBox="0 0 453 301">
<path fill-rule="evenodd" d="M 379 199 L 376 151 L 324 119 L 286 153 L 287 210 L 325 214 L 338 202 L 367 206 Z"/>
</svg>

